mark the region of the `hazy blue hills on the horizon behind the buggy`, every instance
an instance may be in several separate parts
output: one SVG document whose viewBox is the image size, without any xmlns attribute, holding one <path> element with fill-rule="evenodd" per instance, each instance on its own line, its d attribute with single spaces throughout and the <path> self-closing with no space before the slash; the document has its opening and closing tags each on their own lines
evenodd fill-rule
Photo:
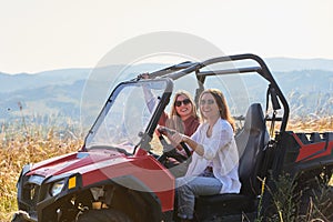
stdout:
<svg viewBox="0 0 333 222">
<path fill-rule="evenodd" d="M 333 60 L 270 58 L 265 61 L 293 109 L 302 107 L 303 109 L 299 110 L 302 114 L 302 111 L 305 113 L 317 111 L 320 105 L 333 113 Z M 97 70 L 91 69 L 62 69 L 34 74 L 0 72 L 0 120 L 11 121 L 24 114 L 41 123 L 49 121 L 46 118 L 49 115 L 79 121 L 82 92 L 84 87 L 90 87 L 87 80 L 92 81 L 91 73 L 99 77 L 94 90 L 103 88 L 110 92 L 120 81 L 163 67 L 167 64 L 139 64 L 125 70 L 119 77 L 114 75 L 114 70 L 119 69 L 117 65 L 99 70 L 101 71 L 99 75 L 94 73 Z M 254 93 L 263 88 L 252 79 L 245 81 L 253 81 L 251 90 Z M 98 100 L 103 102 L 107 97 L 105 94 Z"/>
</svg>

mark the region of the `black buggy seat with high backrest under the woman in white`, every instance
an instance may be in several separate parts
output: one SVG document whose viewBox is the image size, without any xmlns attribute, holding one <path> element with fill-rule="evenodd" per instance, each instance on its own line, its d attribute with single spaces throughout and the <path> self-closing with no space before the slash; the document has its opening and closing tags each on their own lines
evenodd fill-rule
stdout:
<svg viewBox="0 0 333 222">
<path fill-rule="evenodd" d="M 260 169 L 269 140 L 270 135 L 261 104 L 253 103 L 248 109 L 243 129 L 235 137 L 240 155 L 241 192 L 198 196 L 195 214 L 199 221 L 212 220 L 219 214 L 241 214 L 255 211 L 255 202 L 261 192 Z"/>
</svg>

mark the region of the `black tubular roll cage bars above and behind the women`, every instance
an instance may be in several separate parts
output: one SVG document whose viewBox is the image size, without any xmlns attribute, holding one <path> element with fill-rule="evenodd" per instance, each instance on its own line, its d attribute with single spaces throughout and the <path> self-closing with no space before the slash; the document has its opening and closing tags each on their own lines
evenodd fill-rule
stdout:
<svg viewBox="0 0 333 222">
<path fill-rule="evenodd" d="M 238 62 L 251 60 L 256 63 L 256 65 L 240 65 Z M 233 68 L 231 69 L 218 69 L 218 70 L 204 70 L 204 68 L 215 64 L 215 63 L 228 63 L 232 62 Z M 226 74 L 245 74 L 250 72 L 255 72 L 269 81 L 269 88 L 266 90 L 266 109 L 265 109 L 265 120 L 271 122 L 270 134 L 274 135 L 275 122 L 280 121 L 280 132 L 285 131 L 287 119 L 289 119 L 289 104 L 284 98 L 279 84 L 273 78 L 271 71 L 269 70 L 265 62 L 258 56 L 245 53 L 245 54 L 235 54 L 235 56 L 225 56 L 218 57 L 213 59 L 205 60 L 203 62 L 182 62 L 175 65 L 168 67 L 162 70 L 150 73 L 151 79 L 155 78 L 170 78 L 172 80 L 180 79 L 189 73 L 195 72 L 198 80 L 198 89 L 195 92 L 195 102 L 200 93 L 204 90 L 204 83 L 208 77 L 210 75 L 226 75 Z M 139 78 L 140 79 L 140 78 Z M 281 107 L 282 104 L 282 107 Z M 269 107 L 271 107 L 272 112 L 270 113 Z M 283 109 L 283 115 L 278 117 L 278 110 Z"/>
</svg>

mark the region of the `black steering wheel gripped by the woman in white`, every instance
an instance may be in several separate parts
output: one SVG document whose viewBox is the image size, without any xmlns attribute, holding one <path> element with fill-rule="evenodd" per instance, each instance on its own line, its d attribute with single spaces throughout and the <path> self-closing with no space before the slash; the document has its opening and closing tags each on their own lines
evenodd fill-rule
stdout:
<svg viewBox="0 0 333 222">
<path fill-rule="evenodd" d="M 173 134 L 174 132 L 168 128 L 160 128 L 159 132 L 161 133 L 159 137 L 159 140 L 163 147 L 163 153 L 162 155 L 160 155 L 160 158 L 158 159 L 161 163 L 165 162 L 165 160 L 168 158 L 173 158 L 179 162 L 183 162 L 185 160 L 188 160 L 191 157 L 191 151 L 189 150 L 188 145 L 184 142 L 181 142 L 181 147 L 184 149 L 184 151 L 186 152 L 186 157 L 180 154 L 176 149 L 171 145 L 170 143 L 167 142 L 167 140 L 164 139 L 163 134 Z"/>
</svg>

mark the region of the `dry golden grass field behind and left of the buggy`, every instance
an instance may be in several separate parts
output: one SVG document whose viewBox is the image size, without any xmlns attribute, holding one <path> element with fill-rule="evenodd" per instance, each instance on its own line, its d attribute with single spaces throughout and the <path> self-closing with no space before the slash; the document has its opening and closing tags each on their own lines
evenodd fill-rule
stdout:
<svg viewBox="0 0 333 222">
<path fill-rule="evenodd" d="M 289 130 L 333 131 L 333 117 L 317 120 L 291 120 Z M 36 125 L 4 125 L 0 131 L 0 221 L 10 221 L 17 211 L 16 183 L 22 167 L 69 153 L 82 145 L 82 135 L 71 130 L 44 129 Z M 333 185 L 333 180 L 331 180 Z"/>
</svg>

